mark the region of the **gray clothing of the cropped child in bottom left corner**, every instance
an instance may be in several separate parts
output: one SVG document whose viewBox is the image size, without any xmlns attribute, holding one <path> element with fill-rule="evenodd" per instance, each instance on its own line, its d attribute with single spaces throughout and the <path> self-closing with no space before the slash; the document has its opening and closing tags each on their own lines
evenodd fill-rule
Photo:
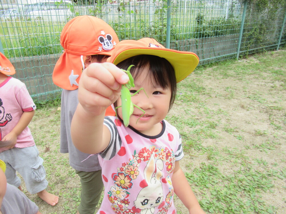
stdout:
<svg viewBox="0 0 286 214">
<path fill-rule="evenodd" d="M 39 207 L 22 191 L 7 183 L 7 190 L 1 206 L 1 212 L 3 214 L 36 214 L 38 211 Z"/>
</svg>

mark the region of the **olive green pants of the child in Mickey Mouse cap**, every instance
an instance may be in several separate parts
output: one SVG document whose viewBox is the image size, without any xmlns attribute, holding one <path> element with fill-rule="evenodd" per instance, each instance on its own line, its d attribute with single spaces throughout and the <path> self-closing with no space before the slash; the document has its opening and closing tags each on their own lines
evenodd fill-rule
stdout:
<svg viewBox="0 0 286 214">
<path fill-rule="evenodd" d="M 82 184 L 81 201 L 78 206 L 80 214 L 94 214 L 103 190 L 101 170 L 84 172 L 76 170 Z"/>
</svg>

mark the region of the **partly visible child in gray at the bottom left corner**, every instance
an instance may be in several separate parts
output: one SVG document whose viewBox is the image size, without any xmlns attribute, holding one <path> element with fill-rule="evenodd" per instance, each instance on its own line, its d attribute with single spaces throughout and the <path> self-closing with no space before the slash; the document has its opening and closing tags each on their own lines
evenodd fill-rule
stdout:
<svg viewBox="0 0 286 214">
<path fill-rule="evenodd" d="M 33 201 L 17 187 L 7 183 L 5 170 L 5 163 L 0 160 L 0 214 L 41 214 Z"/>
</svg>

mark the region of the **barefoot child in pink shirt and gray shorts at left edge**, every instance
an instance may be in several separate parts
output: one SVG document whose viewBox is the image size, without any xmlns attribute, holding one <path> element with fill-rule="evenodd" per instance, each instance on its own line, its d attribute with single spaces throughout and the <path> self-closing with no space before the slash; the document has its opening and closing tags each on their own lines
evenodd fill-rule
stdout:
<svg viewBox="0 0 286 214">
<path fill-rule="evenodd" d="M 21 188 L 23 177 L 27 190 L 54 206 L 59 197 L 48 193 L 43 159 L 35 145 L 28 127 L 36 106 L 23 82 L 11 76 L 15 69 L 11 62 L 0 53 L 0 159 L 6 163 L 7 182 Z"/>
</svg>

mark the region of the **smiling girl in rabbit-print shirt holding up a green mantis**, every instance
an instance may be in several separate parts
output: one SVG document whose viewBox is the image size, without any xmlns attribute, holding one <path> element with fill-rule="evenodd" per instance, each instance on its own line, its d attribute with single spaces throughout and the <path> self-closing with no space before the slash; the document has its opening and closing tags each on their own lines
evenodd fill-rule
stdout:
<svg viewBox="0 0 286 214">
<path fill-rule="evenodd" d="M 75 146 L 99 155 L 105 193 L 98 214 L 174 214 L 174 193 L 189 213 L 204 213 L 180 168 L 180 134 L 164 120 L 175 99 L 176 83 L 194 70 L 198 57 L 144 38 L 121 41 L 108 61 L 118 68 L 103 63 L 84 70 L 80 103 L 72 120 Z M 130 65 L 134 65 L 131 74 L 135 84 L 130 88 L 134 94 L 131 100 L 145 113 L 141 117 L 142 110 L 134 107 L 126 128 L 120 89 L 129 78 L 119 68 L 126 70 Z M 104 118 L 112 103 L 118 106 L 118 118 Z"/>
</svg>

